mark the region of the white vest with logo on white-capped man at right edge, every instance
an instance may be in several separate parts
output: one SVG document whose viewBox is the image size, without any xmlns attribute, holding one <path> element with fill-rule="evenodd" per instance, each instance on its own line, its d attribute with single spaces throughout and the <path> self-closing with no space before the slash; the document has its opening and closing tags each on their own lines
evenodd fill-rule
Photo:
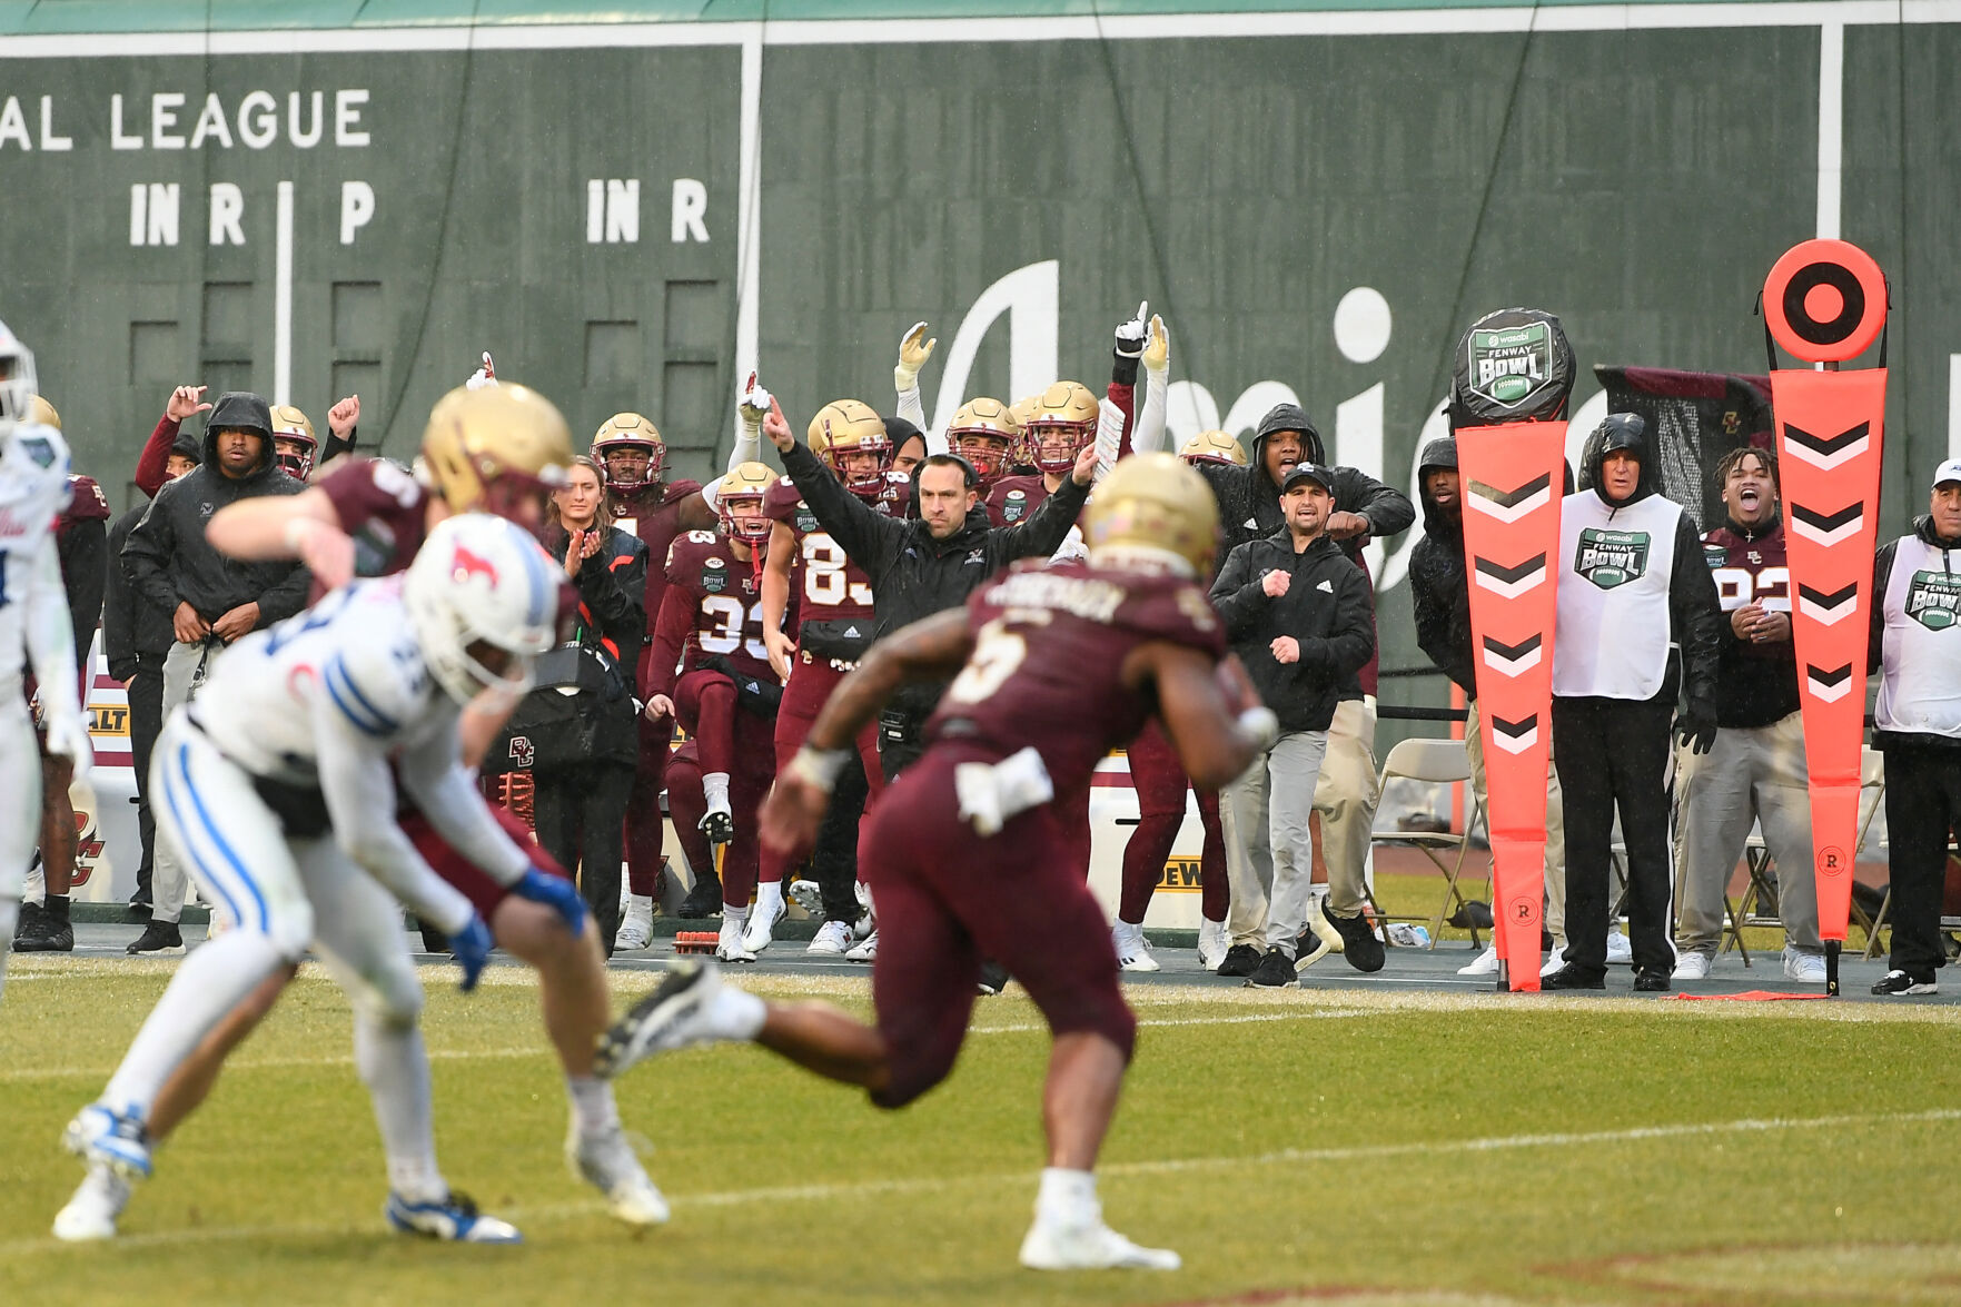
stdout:
<svg viewBox="0 0 1961 1307">
<path fill-rule="evenodd" d="M 1949 553 L 1955 557 L 1949 559 Z M 1904 536 L 1886 573 L 1879 701 L 1873 724 L 1961 738 L 1961 549 Z"/>
</svg>

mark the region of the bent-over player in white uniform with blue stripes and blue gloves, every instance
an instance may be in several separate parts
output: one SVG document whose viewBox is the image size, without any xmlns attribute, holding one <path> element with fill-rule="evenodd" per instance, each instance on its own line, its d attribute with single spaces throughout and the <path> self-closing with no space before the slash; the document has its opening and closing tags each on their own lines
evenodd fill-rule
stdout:
<svg viewBox="0 0 1961 1307">
<path fill-rule="evenodd" d="M 465 989 L 490 930 L 396 824 L 390 758 L 453 848 L 582 924 L 571 885 L 531 867 L 457 754 L 457 714 L 480 691 L 524 691 L 557 612 L 537 542 L 500 518 L 461 516 L 435 528 L 406 577 L 351 585 L 241 638 L 214 669 L 224 693 L 171 714 L 151 763 L 157 834 L 229 928 L 184 960 L 102 1097 L 69 1123 L 63 1144 L 90 1172 L 55 1217 L 57 1236 L 116 1232 L 127 1183 L 151 1172 L 151 1113 L 171 1073 L 312 948 L 353 1003 L 355 1066 L 388 1158 L 388 1223 L 447 1240 L 520 1238 L 453 1193 L 435 1164 L 422 985 L 394 901 L 455 940 Z"/>
</svg>

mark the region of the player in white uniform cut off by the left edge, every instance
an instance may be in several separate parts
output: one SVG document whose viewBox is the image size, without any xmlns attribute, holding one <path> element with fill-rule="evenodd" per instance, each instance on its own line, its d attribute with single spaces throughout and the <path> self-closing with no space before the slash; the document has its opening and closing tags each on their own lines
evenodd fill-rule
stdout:
<svg viewBox="0 0 1961 1307">
<path fill-rule="evenodd" d="M 69 502 L 69 445 L 33 422 L 33 353 L 0 322 L 0 993 L 41 830 L 41 750 L 24 689 L 29 661 L 49 756 L 78 773 L 90 761 L 55 544 L 55 518 Z"/>
</svg>

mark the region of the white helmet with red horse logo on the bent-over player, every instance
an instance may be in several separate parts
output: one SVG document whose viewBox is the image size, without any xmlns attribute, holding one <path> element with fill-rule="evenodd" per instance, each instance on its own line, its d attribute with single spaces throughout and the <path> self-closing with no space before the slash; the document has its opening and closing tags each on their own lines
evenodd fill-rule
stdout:
<svg viewBox="0 0 1961 1307">
<path fill-rule="evenodd" d="M 429 532 L 402 601 L 422 657 L 451 699 L 531 689 L 531 659 L 557 638 L 563 575 L 522 526 L 488 512 L 463 512 Z"/>
</svg>

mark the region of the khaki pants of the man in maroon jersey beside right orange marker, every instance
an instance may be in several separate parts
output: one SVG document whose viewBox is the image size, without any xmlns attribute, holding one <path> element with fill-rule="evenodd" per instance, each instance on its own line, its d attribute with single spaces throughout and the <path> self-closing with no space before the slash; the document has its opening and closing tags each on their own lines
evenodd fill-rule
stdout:
<svg viewBox="0 0 1961 1307">
<path fill-rule="evenodd" d="M 1751 824 L 1777 860 L 1777 913 L 1785 946 L 1822 954 L 1818 942 L 1818 883 L 1812 879 L 1812 793 L 1804 761 L 1800 712 L 1769 726 L 1726 726 L 1716 746 L 1675 759 L 1679 816 L 1675 822 L 1675 899 L 1681 920 L 1677 946 L 1714 958 L 1722 944 L 1722 897 L 1735 871 Z"/>
</svg>

